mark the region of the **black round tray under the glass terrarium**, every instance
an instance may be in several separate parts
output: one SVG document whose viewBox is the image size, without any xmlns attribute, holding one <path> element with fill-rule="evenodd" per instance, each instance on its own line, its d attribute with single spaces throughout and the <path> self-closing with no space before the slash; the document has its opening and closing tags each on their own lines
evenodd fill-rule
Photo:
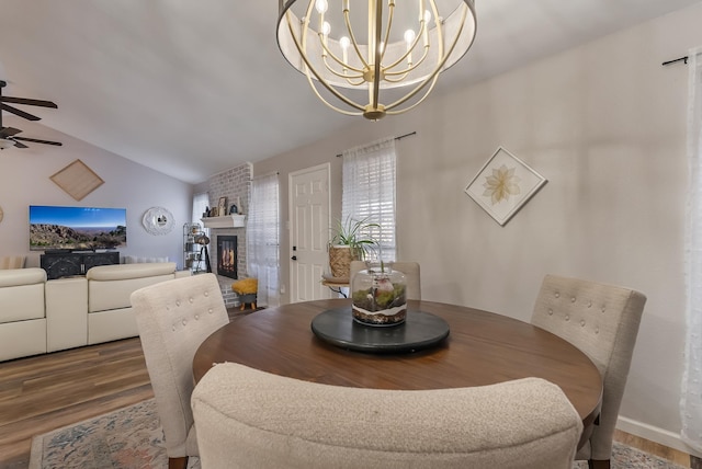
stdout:
<svg viewBox="0 0 702 469">
<path fill-rule="evenodd" d="M 328 309 L 312 320 L 312 331 L 325 342 L 358 352 L 407 353 L 440 344 L 449 336 L 443 319 L 407 309 L 404 323 L 392 327 L 361 324 L 351 308 Z"/>
</svg>

